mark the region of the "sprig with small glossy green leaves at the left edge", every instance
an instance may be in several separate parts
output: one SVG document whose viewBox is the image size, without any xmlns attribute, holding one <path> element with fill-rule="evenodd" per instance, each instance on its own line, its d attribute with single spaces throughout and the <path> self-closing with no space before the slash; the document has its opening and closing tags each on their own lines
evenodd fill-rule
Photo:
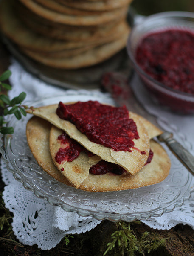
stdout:
<svg viewBox="0 0 194 256">
<path fill-rule="evenodd" d="M 14 128 L 13 127 L 5 127 L 3 126 L 6 124 L 4 116 L 12 115 L 20 120 L 23 116 L 26 116 L 26 109 L 28 107 L 26 105 L 22 105 L 23 100 L 26 97 L 26 93 L 22 92 L 18 96 L 14 97 L 13 99 L 9 99 L 9 96 L 2 93 L 2 90 L 5 89 L 11 90 L 11 86 L 4 81 L 6 81 L 11 76 L 11 71 L 6 70 L 0 76 L 0 108 L 1 108 L 1 116 L 0 116 L 0 133 L 2 134 L 13 134 Z"/>
</svg>

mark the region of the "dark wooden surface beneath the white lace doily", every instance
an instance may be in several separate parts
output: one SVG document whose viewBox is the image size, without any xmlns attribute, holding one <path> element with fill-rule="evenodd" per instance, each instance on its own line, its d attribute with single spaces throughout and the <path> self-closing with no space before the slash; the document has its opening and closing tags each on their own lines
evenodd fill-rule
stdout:
<svg viewBox="0 0 194 256">
<path fill-rule="evenodd" d="M 0 43 L 0 73 L 7 70 L 9 65 L 9 53 L 3 44 Z M 0 192 L 3 192 L 4 184 L 0 179 Z M 65 245 L 65 239 L 56 246 L 56 248 L 48 251 L 43 251 L 34 246 L 23 246 L 17 244 L 17 239 L 11 229 L 12 215 L 4 207 L 2 198 L 0 206 L 0 255 L 75 255 L 75 256 L 101 256 L 107 248 L 107 243 L 112 241 L 111 234 L 118 230 L 117 223 L 110 221 L 102 221 L 95 229 L 90 232 L 74 235 L 70 239 L 68 246 Z M 145 231 L 149 231 L 149 241 L 153 238 L 158 240 L 165 239 L 165 245 L 160 246 L 157 250 L 146 253 L 144 255 L 155 256 L 194 256 L 194 230 L 189 226 L 177 225 L 171 230 L 153 230 L 142 223 L 132 223 L 131 228 L 137 238 L 140 238 Z M 116 247 L 110 255 L 121 255 L 121 247 Z M 127 250 L 124 250 L 124 255 Z M 135 252 L 134 255 L 142 255 Z"/>
</svg>

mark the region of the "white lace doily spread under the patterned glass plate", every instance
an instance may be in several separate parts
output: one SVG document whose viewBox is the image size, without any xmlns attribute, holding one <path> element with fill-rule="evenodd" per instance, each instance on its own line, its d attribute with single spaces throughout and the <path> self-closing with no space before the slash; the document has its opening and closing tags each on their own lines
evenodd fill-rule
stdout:
<svg viewBox="0 0 194 256">
<path fill-rule="evenodd" d="M 22 91 L 27 93 L 27 100 L 37 100 L 46 96 L 59 95 L 64 89 L 45 84 L 27 73 L 12 60 L 9 68 L 12 72 L 10 83 L 13 89 L 9 95 L 11 98 Z M 144 95 L 144 93 L 143 93 Z M 140 94 L 141 97 L 141 94 Z M 189 137 L 189 142 L 194 143 L 194 116 L 179 116 L 161 110 L 144 96 L 140 99 L 146 105 L 148 111 L 156 111 L 160 116 L 165 116 L 174 124 L 174 129 L 179 128 L 180 136 Z M 192 147 L 191 151 L 193 153 Z M 1 163 L 2 177 L 6 184 L 3 192 L 3 200 L 6 208 L 14 214 L 13 231 L 22 244 L 37 244 L 42 250 L 48 250 L 56 246 L 66 234 L 82 233 L 96 227 L 100 221 L 91 217 L 81 217 L 76 213 L 65 212 L 60 207 L 51 206 L 45 199 L 37 198 L 33 192 L 26 190 L 21 183 L 14 179 L 13 175 Z M 192 181 L 194 186 L 194 179 Z M 182 207 L 173 212 L 165 213 L 160 217 L 143 221 L 152 228 L 170 229 L 179 223 L 188 224 L 194 228 L 194 193 L 190 200 L 184 202 Z"/>
</svg>

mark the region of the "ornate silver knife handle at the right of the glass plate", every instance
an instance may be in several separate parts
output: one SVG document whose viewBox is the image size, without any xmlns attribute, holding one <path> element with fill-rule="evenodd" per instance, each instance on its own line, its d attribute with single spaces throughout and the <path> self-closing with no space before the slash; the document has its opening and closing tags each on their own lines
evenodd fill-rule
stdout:
<svg viewBox="0 0 194 256">
<path fill-rule="evenodd" d="M 165 131 L 160 134 L 158 140 L 165 142 L 173 154 L 177 156 L 181 163 L 194 175 L 194 156 L 191 155 L 180 143 L 178 143 L 174 138 L 173 134 Z"/>
</svg>

